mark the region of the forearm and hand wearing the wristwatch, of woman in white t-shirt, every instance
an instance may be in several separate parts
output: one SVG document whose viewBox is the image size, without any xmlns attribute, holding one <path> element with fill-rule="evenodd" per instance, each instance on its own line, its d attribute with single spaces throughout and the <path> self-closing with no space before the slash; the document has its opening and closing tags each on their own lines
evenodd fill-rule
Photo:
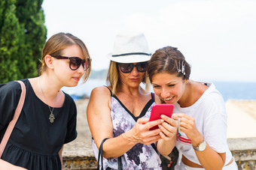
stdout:
<svg viewBox="0 0 256 170">
<path fill-rule="evenodd" d="M 194 118 L 182 113 L 175 114 L 173 118 L 175 120 L 180 118 L 180 130 L 191 140 L 194 147 L 203 142 L 203 135 L 197 130 Z M 195 151 L 195 153 L 204 169 L 222 169 L 224 166 L 226 154 L 217 153 L 208 144 L 204 151 Z"/>
</svg>

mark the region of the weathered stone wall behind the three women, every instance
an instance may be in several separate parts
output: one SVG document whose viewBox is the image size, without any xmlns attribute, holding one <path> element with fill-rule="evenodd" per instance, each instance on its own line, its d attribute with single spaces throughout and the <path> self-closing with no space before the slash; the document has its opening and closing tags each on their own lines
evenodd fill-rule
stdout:
<svg viewBox="0 0 256 170">
<path fill-rule="evenodd" d="M 256 138 L 227 139 L 239 170 L 256 169 Z M 75 142 L 63 150 L 63 169 L 96 169 L 90 143 Z"/>
</svg>

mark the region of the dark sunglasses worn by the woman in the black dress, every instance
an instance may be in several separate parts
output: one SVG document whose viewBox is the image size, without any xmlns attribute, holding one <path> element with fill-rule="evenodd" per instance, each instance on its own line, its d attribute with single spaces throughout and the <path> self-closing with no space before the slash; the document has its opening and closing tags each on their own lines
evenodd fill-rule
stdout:
<svg viewBox="0 0 256 170">
<path fill-rule="evenodd" d="M 57 59 L 69 59 L 69 68 L 71 70 L 78 70 L 81 64 L 84 67 L 84 70 L 86 70 L 87 65 L 89 65 L 91 61 L 90 58 L 87 58 L 87 63 L 86 63 L 85 60 L 82 60 L 81 58 L 78 58 L 78 57 L 65 57 L 61 55 L 56 55 L 56 56 L 51 55 L 51 56 Z"/>
</svg>

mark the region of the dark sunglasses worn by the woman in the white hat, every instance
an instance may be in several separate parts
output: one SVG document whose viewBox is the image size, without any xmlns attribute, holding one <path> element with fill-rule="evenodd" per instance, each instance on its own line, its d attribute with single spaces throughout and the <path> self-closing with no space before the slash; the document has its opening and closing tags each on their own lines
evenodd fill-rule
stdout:
<svg viewBox="0 0 256 170">
<path fill-rule="evenodd" d="M 148 68 L 148 61 L 139 62 L 137 64 L 133 63 L 118 63 L 118 66 L 123 73 L 131 73 L 133 67 L 136 67 L 139 72 L 145 72 Z"/>
</svg>

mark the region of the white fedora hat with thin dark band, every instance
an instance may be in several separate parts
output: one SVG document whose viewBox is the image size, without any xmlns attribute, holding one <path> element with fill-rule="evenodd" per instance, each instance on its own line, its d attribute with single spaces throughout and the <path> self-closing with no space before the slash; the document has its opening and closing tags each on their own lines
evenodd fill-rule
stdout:
<svg viewBox="0 0 256 170">
<path fill-rule="evenodd" d="M 117 34 L 114 40 L 111 61 L 117 63 L 138 63 L 149 61 L 151 52 L 145 35 L 136 32 Z"/>
</svg>

